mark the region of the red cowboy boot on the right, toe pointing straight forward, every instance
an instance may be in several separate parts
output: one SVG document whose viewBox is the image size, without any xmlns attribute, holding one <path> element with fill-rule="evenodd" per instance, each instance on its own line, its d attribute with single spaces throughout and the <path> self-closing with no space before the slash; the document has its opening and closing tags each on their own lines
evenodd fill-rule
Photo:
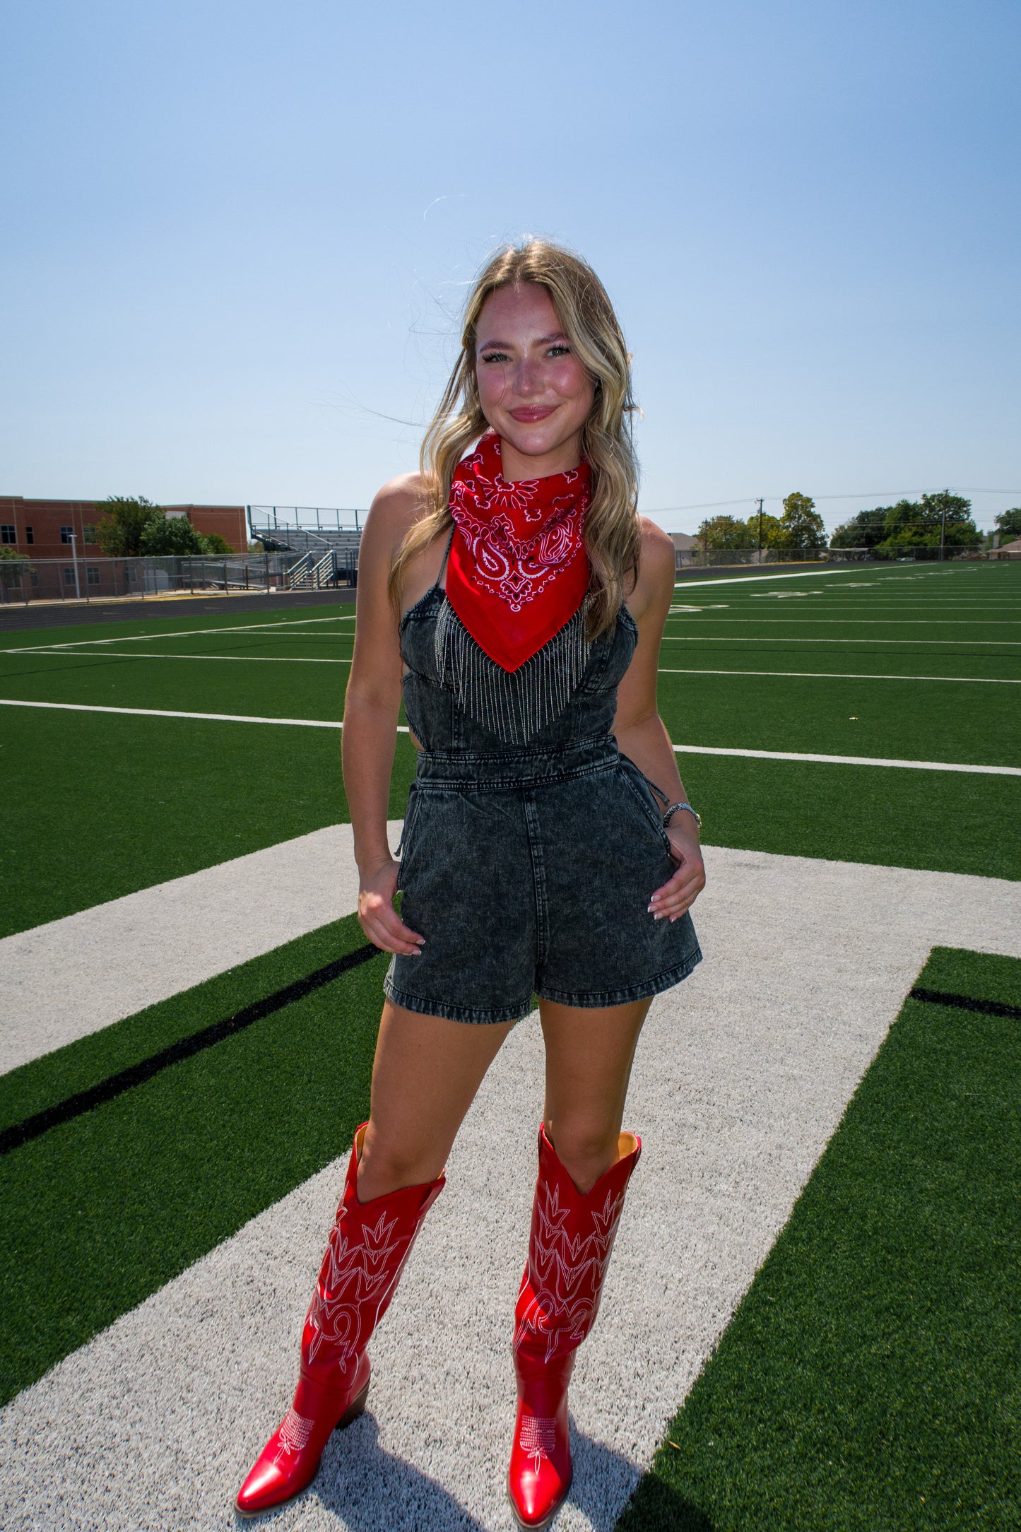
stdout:
<svg viewBox="0 0 1021 1532">
<path fill-rule="evenodd" d="M 539 1129 L 539 1180 L 528 1265 L 514 1310 L 517 1419 L 507 1494 L 522 1527 L 546 1527 L 571 1488 L 568 1383 L 574 1353 L 595 1322 L 603 1278 L 631 1172 L 637 1134 L 621 1134 L 618 1160 L 582 1195 Z"/>
</svg>

